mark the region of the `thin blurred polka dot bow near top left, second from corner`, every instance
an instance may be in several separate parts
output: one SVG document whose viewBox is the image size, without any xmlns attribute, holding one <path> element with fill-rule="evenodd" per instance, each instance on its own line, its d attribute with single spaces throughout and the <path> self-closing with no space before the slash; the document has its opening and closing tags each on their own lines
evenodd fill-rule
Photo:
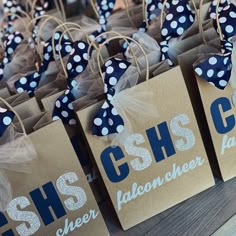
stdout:
<svg viewBox="0 0 236 236">
<path fill-rule="evenodd" d="M 39 16 L 43 16 L 48 8 L 48 1 L 45 1 L 42 5 L 37 5 L 35 9 L 33 9 L 33 18 L 37 18 Z M 38 35 L 38 25 L 40 19 L 35 21 L 34 27 L 32 29 L 32 35 L 29 38 L 29 43 L 34 47 L 37 44 L 37 35 Z"/>
</svg>

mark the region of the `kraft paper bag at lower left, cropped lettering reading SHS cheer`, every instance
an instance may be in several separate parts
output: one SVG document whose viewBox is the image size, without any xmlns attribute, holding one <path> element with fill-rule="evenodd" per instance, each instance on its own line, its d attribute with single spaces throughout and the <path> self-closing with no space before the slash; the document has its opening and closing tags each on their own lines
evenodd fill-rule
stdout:
<svg viewBox="0 0 236 236">
<path fill-rule="evenodd" d="M 29 173 L 4 171 L 13 200 L 0 213 L 0 233 L 109 235 L 63 124 L 54 122 L 28 137 L 37 158 Z"/>
</svg>

